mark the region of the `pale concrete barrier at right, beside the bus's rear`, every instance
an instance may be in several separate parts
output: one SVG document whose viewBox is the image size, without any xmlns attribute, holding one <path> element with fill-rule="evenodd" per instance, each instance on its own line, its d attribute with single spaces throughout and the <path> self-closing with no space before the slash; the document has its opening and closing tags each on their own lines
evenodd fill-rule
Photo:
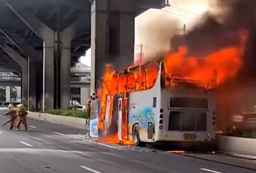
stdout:
<svg viewBox="0 0 256 173">
<path fill-rule="evenodd" d="M 218 148 L 230 154 L 256 155 L 256 139 L 218 136 Z"/>
</svg>

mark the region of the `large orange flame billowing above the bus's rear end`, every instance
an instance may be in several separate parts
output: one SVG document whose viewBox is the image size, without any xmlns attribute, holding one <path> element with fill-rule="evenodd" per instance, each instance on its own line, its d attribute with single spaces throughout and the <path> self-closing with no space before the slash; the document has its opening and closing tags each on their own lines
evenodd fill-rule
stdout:
<svg viewBox="0 0 256 173">
<path fill-rule="evenodd" d="M 179 75 L 183 79 L 208 81 L 216 75 L 217 83 L 220 84 L 234 77 L 242 64 L 242 49 L 236 47 L 222 49 L 203 58 L 186 55 L 185 47 L 181 47 L 178 53 L 165 55 L 163 62 L 166 76 Z"/>
</svg>

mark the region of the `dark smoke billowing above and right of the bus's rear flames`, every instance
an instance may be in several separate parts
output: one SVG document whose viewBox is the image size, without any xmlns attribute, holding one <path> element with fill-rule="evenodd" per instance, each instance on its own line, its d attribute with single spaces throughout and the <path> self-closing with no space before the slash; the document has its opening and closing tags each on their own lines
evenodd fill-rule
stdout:
<svg viewBox="0 0 256 173">
<path fill-rule="evenodd" d="M 256 105 L 256 1 L 217 0 L 215 13 L 207 12 L 197 25 L 171 39 L 171 50 L 186 46 L 188 56 L 203 57 L 223 48 L 239 46 L 241 31 L 248 32 L 243 63 L 236 78 L 229 79 L 218 91 L 217 124 L 232 126 L 232 116 L 252 111 Z"/>
</svg>

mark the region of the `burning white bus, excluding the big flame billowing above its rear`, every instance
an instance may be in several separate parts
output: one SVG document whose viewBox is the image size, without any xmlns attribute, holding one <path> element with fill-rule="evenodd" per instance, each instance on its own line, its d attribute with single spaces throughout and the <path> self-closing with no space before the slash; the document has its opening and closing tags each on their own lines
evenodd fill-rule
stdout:
<svg viewBox="0 0 256 173">
<path fill-rule="evenodd" d="M 200 59 L 198 59 L 200 60 Z M 93 101 L 90 135 L 106 142 L 215 141 L 217 74 L 211 80 L 169 75 L 166 61 L 122 71 L 106 67 Z"/>
</svg>

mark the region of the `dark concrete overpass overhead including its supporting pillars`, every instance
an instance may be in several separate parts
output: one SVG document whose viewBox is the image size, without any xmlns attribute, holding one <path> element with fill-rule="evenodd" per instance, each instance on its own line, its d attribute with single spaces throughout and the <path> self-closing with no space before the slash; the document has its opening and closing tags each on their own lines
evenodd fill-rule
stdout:
<svg viewBox="0 0 256 173">
<path fill-rule="evenodd" d="M 164 0 L 1 0 L 2 70 L 22 76 L 29 109 L 66 109 L 70 67 L 92 48 L 91 91 L 105 63 L 133 63 L 134 18 Z"/>
</svg>

